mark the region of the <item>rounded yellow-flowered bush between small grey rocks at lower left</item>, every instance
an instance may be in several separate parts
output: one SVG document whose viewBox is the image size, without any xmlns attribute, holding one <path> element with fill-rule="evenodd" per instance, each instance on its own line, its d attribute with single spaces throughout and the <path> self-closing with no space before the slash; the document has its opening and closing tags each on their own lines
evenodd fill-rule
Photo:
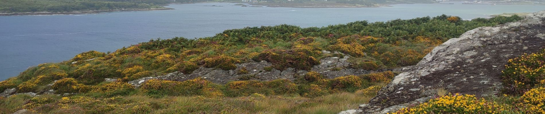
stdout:
<svg viewBox="0 0 545 114">
<path fill-rule="evenodd" d="M 53 83 L 51 88 L 55 90 L 56 93 L 75 93 L 79 92 L 83 84 L 77 82 L 74 78 L 64 78 Z"/>
</svg>

